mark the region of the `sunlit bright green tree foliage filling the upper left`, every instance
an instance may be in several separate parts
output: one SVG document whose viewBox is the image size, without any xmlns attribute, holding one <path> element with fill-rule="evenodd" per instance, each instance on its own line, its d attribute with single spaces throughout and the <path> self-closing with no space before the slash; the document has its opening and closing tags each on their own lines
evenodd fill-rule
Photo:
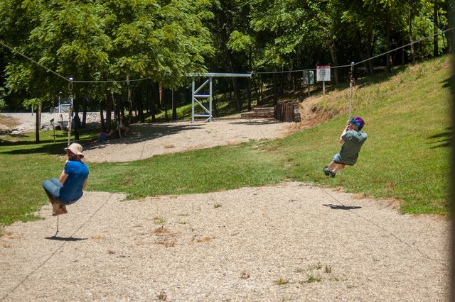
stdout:
<svg viewBox="0 0 455 302">
<path fill-rule="evenodd" d="M 188 73 L 205 71 L 203 55 L 212 51 L 202 23 L 212 16 L 203 10 L 207 2 L 2 1 L 1 37 L 39 63 L 11 54 L 6 88 L 21 91 L 24 105 L 38 106 L 62 91 L 70 76 L 77 99 L 119 91 L 115 83 L 80 80 L 142 77 L 181 86 Z"/>
</svg>

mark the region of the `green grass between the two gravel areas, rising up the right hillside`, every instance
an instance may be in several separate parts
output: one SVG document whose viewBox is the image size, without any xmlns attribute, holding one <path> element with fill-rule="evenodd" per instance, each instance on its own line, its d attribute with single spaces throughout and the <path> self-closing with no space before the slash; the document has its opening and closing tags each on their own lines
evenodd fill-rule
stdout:
<svg viewBox="0 0 455 302">
<path fill-rule="evenodd" d="M 331 121 L 287 138 L 160 155 L 122 163 L 90 163 L 88 190 L 123 192 L 129 198 L 191 194 L 311 181 L 353 193 L 400 200 L 403 213 L 446 215 L 449 180 L 449 57 L 358 80 L 353 114 L 365 118 L 365 142 L 358 163 L 335 179 L 322 167 L 340 150 L 348 90 L 334 89 L 318 106 L 340 112 Z M 320 96 L 314 96 L 320 97 Z M 82 143 L 97 131 L 81 134 Z M 41 132 L 0 140 L 0 224 L 37 219 L 47 202 L 44 179 L 63 168 L 66 133 Z"/>
</svg>

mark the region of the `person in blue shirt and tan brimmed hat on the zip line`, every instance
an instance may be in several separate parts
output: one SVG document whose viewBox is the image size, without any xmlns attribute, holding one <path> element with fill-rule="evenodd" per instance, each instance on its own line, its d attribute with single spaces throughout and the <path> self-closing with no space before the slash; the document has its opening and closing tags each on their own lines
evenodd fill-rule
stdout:
<svg viewBox="0 0 455 302">
<path fill-rule="evenodd" d="M 53 216 L 66 214 L 66 206 L 78 201 L 87 186 L 88 167 L 82 162 L 82 145 L 73 143 L 64 149 L 68 155 L 60 178 L 47 179 L 43 188 L 53 206 Z"/>
</svg>

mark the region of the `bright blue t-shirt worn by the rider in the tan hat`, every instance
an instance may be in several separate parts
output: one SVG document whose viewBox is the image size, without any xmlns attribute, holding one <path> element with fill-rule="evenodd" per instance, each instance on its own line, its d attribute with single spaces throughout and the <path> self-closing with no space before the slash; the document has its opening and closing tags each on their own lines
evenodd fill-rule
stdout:
<svg viewBox="0 0 455 302">
<path fill-rule="evenodd" d="M 82 197 L 82 185 L 88 177 L 87 164 L 77 160 L 70 160 L 65 165 L 65 173 L 68 178 L 60 188 L 60 199 L 70 203 Z"/>
</svg>

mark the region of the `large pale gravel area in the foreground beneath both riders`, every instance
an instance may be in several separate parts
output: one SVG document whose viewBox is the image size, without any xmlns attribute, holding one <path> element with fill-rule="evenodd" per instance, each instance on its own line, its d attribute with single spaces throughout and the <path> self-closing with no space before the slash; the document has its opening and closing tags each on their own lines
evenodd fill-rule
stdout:
<svg viewBox="0 0 455 302">
<path fill-rule="evenodd" d="M 449 223 L 297 182 L 87 192 L 0 238 L 4 301 L 445 301 Z"/>
</svg>

